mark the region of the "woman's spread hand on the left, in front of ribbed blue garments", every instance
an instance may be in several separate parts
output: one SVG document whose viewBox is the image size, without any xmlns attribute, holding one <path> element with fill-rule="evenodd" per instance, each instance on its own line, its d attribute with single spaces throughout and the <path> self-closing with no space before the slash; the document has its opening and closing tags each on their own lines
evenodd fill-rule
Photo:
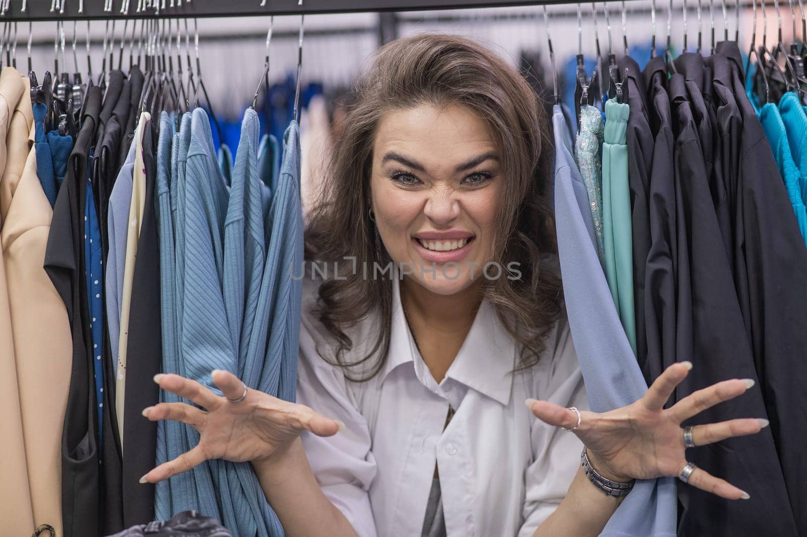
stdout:
<svg viewBox="0 0 807 537">
<path fill-rule="evenodd" d="M 141 483 L 163 481 L 208 459 L 232 462 L 275 460 L 303 431 L 331 436 L 344 427 L 307 406 L 283 401 L 255 389 L 248 389 L 243 401 L 232 402 L 244 394 L 244 383 L 227 371 L 215 370 L 211 376 L 224 397 L 179 375 L 154 377 L 161 389 L 176 393 L 205 410 L 184 402 L 162 402 L 143 410 L 143 415 L 153 422 L 173 419 L 190 425 L 199 431 L 199 444 L 176 459 L 153 468 L 144 475 Z"/>
</svg>

